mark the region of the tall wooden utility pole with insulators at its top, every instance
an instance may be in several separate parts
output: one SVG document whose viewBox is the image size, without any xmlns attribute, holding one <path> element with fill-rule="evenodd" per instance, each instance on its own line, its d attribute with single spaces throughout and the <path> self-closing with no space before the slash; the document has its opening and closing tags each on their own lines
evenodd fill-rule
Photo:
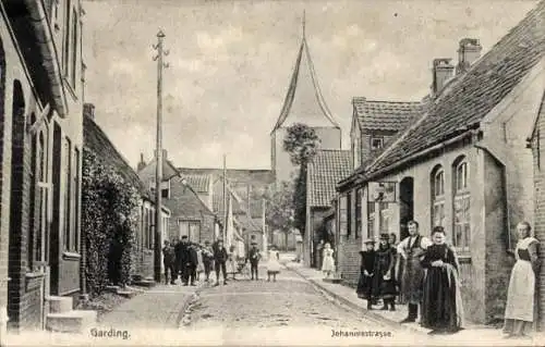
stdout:
<svg viewBox="0 0 545 347">
<path fill-rule="evenodd" d="M 161 183 L 162 183 L 162 70 L 168 67 L 164 63 L 164 55 L 169 52 L 164 50 L 162 40 L 165 34 L 162 30 L 157 33 L 157 45 L 154 49 L 157 50 L 157 55 L 154 61 L 157 61 L 157 149 L 156 149 L 156 172 L 155 172 L 155 244 L 154 244 L 154 278 L 155 282 L 161 282 L 161 234 L 162 234 L 162 201 L 161 201 Z"/>
</svg>

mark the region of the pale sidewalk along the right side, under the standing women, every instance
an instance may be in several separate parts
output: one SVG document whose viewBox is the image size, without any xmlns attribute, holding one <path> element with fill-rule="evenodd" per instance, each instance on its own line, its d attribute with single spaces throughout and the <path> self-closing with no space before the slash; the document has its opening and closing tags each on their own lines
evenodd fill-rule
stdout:
<svg viewBox="0 0 545 347">
<path fill-rule="evenodd" d="M 315 269 L 305 268 L 301 263 L 296 262 L 284 262 L 284 265 L 310 281 L 318 288 L 327 293 L 328 295 L 335 297 L 340 302 L 349 306 L 352 309 L 359 310 L 362 314 L 373 321 L 377 321 L 389 325 L 393 329 L 409 330 L 413 333 L 427 335 L 428 329 L 420 326 L 417 323 L 400 324 L 399 322 L 407 317 L 407 306 L 398 305 L 396 306 L 396 311 L 382 311 L 367 310 L 367 301 L 360 299 L 355 290 L 351 287 L 343 286 L 341 284 L 335 284 L 329 282 L 324 282 L 324 274 Z M 377 306 L 377 308 L 379 308 Z M 469 325 L 456 335 L 435 335 L 433 336 L 435 342 L 441 339 L 441 344 L 446 343 L 448 345 L 456 344 L 474 344 L 479 345 L 494 345 L 494 346 L 538 346 L 545 340 L 543 334 L 534 336 L 532 339 L 505 339 L 502 338 L 501 330 L 487 327 L 485 325 Z M 541 344 L 538 342 L 542 342 Z"/>
</svg>

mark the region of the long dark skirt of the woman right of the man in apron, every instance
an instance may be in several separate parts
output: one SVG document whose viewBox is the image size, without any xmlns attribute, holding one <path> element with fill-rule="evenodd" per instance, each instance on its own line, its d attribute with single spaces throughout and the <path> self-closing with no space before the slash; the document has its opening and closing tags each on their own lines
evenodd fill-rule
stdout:
<svg viewBox="0 0 545 347">
<path fill-rule="evenodd" d="M 450 264 L 441 268 L 431 267 L 424 280 L 422 326 L 457 332 L 462 326 L 462 322 L 458 272 Z"/>
</svg>

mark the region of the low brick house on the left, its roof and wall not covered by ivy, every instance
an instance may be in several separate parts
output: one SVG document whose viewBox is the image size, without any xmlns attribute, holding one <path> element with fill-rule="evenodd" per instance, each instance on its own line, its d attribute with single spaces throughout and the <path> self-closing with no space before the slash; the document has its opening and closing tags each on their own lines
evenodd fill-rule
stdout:
<svg viewBox="0 0 545 347">
<path fill-rule="evenodd" d="M 116 149 L 108 136 L 95 121 L 95 108 L 90 103 L 84 104 L 83 119 L 83 145 L 93 151 L 102 164 L 112 169 L 123 181 L 130 183 L 140 193 L 138 203 L 138 227 L 135 235 L 135 248 L 132 252 L 133 276 L 142 278 L 154 275 L 154 245 L 155 245 L 155 196 L 147 189 L 146 185 L 131 168 L 129 162 Z M 167 236 L 170 211 L 162 206 L 162 239 Z M 162 262 L 161 262 L 162 267 Z"/>
</svg>

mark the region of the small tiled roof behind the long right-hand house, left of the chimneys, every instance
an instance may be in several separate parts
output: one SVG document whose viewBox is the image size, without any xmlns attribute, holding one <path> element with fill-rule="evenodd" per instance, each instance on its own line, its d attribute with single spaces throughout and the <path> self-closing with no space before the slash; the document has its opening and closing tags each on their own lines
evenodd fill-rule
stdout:
<svg viewBox="0 0 545 347">
<path fill-rule="evenodd" d="M 424 110 L 422 102 L 352 100 L 361 129 L 400 131 Z"/>
</svg>

